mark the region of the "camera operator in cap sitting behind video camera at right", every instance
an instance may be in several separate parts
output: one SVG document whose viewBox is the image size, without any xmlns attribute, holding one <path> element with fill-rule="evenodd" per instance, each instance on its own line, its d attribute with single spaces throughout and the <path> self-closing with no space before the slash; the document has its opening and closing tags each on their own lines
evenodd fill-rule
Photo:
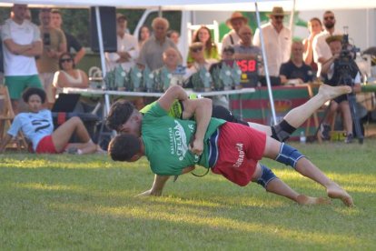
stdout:
<svg viewBox="0 0 376 251">
<path fill-rule="evenodd" d="M 322 65 L 322 73 L 326 75 L 325 82 L 328 85 L 343 85 L 345 83 L 341 83 L 341 71 L 339 71 L 339 61 L 338 57 L 341 53 L 342 48 L 342 35 L 331 35 L 326 38 L 325 40 L 330 49 L 331 49 L 331 58 L 329 58 L 323 65 Z M 351 75 L 351 79 L 355 85 L 361 85 L 361 75 L 359 72 L 359 68 L 354 61 L 350 61 L 348 71 Z M 355 88 L 356 90 L 357 88 Z M 345 143 L 351 143 L 353 140 L 352 136 L 352 118 L 351 118 L 351 110 L 349 101 L 347 99 L 347 95 L 340 95 L 334 98 L 331 101 L 331 107 L 329 113 L 326 115 L 324 122 L 321 126 L 321 133 L 322 138 L 329 139 L 329 132 L 331 131 L 331 126 L 329 126 L 330 122 L 334 118 L 334 114 L 337 110 L 341 111 L 342 115 L 342 122 L 344 129 L 346 130 L 346 138 Z"/>
</svg>

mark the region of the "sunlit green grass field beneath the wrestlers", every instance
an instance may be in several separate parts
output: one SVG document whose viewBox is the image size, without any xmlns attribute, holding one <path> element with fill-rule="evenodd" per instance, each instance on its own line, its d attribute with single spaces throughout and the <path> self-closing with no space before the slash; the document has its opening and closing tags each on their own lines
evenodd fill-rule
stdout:
<svg viewBox="0 0 376 251">
<path fill-rule="evenodd" d="M 376 141 L 295 146 L 356 206 L 298 206 L 213 174 L 169 181 L 163 197 L 135 197 L 153 182 L 145 160 L 1 155 L 0 249 L 376 250 Z M 325 196 L 290 167 L 262 163 L 299 192 Z"/>
</svg>

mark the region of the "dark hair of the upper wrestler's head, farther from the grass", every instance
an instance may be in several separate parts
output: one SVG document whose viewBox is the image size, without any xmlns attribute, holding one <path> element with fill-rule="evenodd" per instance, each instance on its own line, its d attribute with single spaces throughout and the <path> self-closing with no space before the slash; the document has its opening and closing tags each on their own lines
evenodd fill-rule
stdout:
<svg viewBox="0 0 376 251">
<path fill-rule="evenodd" d="M 125 99 L 117 100 L 111 105 L 110 112 L 105 119 L 105 126 L 111 130 L 119 130 L 134 112 L 134 104 Z"/>
</svg>

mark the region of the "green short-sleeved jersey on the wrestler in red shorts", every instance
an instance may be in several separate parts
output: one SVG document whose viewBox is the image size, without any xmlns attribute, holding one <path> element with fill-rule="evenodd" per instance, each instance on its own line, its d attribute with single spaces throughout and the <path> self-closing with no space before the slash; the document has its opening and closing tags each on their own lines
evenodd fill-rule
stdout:
<svg viewBox="0 0 376 251">
<path fill-rule="evenodd" d="M 145 156 L 150 162 L 154 174 L 178 176 L 187 166 L 200 165 L 209 168 L 208 139 L 225 123 L 222 119 L 212 118 L 204 136 L 202 156 L 195 156 L 188 146 L 196 131 L 193 120 L 171 117 L 159 103 L 150 105 L 143 115 L 142 138 Z"/>
</svg>

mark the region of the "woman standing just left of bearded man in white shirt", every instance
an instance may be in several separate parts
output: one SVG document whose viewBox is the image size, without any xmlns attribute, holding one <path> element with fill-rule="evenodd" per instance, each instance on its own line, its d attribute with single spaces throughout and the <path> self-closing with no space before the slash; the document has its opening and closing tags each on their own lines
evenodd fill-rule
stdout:
<svg viewBox="0 0 376 251">
<path fill-rule="evenodd" d="M 322 32 L 322 21 L 320 21 L 320 19 L 317 17 L 311 18 L 311 20 L 308 22 L 308 30 L 310 35 L 302 42 L 304 45 L 303 58 L 305 64 L 311 65 L 313 71 L 317 72 L 317 64 L 313 61 L 312 43 L 316 35 L 319 35 Z"/>
</svg>

